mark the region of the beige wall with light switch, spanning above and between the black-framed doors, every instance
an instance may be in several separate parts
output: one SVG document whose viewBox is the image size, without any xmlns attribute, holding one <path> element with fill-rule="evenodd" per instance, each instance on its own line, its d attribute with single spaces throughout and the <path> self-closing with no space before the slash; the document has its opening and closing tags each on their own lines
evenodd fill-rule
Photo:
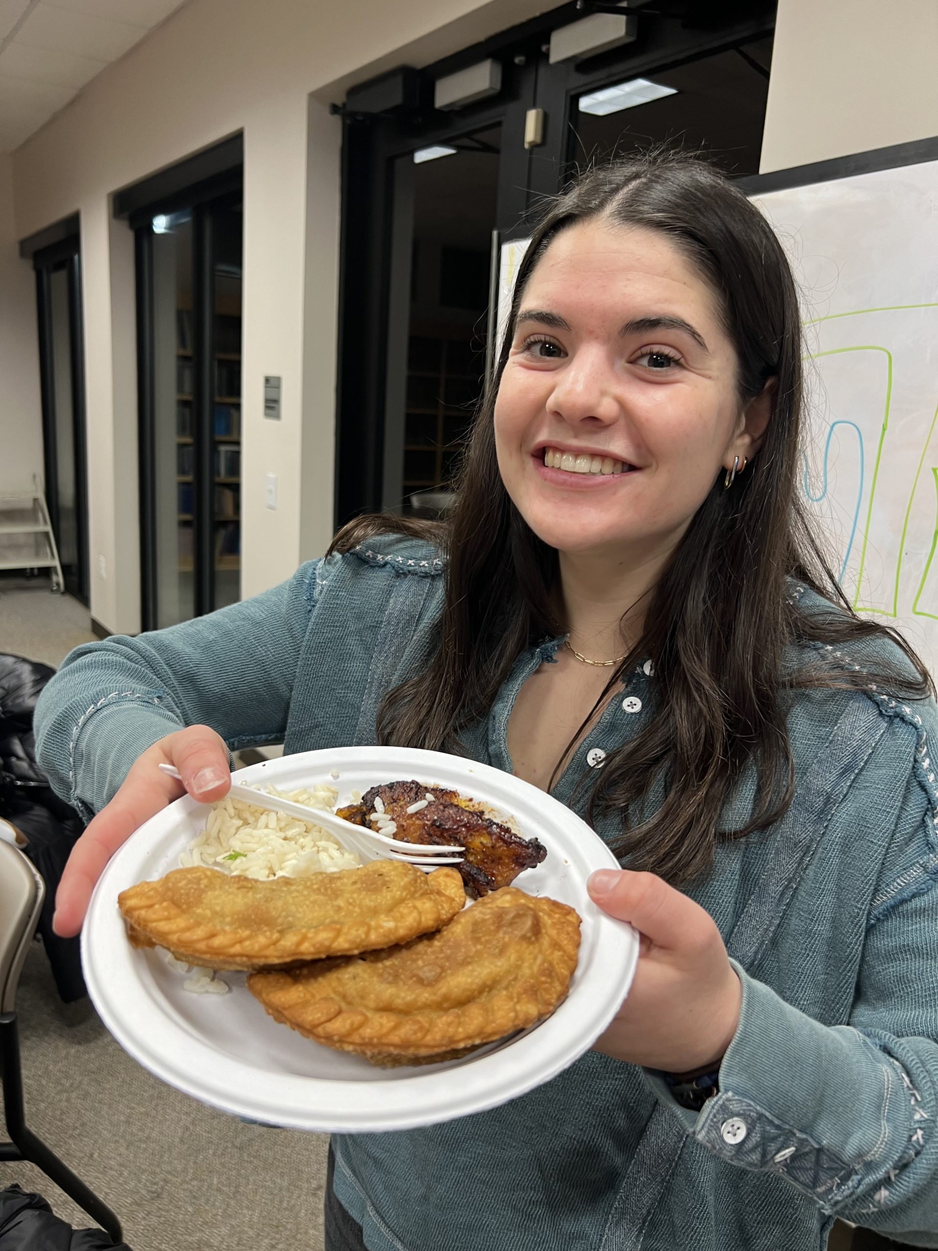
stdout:
<svg viewBox="0 0 938 1251">
<path fill-rule="evenodd" d="M 190 0 L 14 154 L 19 236 L 81 215 L 91 613 L 104 626 L 139 628 L 126 228 L 111 194 L 244 133 L 241 593 L 254 594 L 331 537 L 341 126 L 328 101 L 553 6 Z M 283 378 L 279 424 L 263 417 L 264 374 Z"/>
</svg>

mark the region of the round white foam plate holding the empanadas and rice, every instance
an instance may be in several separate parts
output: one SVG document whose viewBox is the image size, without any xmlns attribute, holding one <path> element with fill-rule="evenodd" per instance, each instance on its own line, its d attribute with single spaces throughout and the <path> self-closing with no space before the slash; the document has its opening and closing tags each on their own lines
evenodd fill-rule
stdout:
<svg viewBox="0 0 938 1251">
<path fill-rule="evenodd" d="M 339 778 L 330 777 L 339 769 Z M 461 1060 L 378 1068 L 278 1025 L 244 985 L 221 973 L 229 995 L 193 995 L 166 953 L 128 942 L 118 894 L 179 867 L 179 853 L 205 828 L 210 808 L 178 799 L 118 851 L 101 876 L 81 934 L 88 990 L 105 1026 L 144 1068 L 176 1090 L 236 1116 L 321 1132 L 365 1133 L 434 1125 L 497 1107 L 555 1077 L 612 1021 L 638 962 L 638 938 L 587 894 L 597 868 L 615 868 L 603 841 L 569 808 L 508 773 L 475 761 L 398 747 L 304 752 L 240 769 L 241 782 L 285 791 L 325 782 L 339 802 L 353 791 L 415 778 L 472 796 L 515 818 L 548 854 L 515 886 L 549 896 L 583 918 L 570 992 L 540 1025 Z"/>
</svg>

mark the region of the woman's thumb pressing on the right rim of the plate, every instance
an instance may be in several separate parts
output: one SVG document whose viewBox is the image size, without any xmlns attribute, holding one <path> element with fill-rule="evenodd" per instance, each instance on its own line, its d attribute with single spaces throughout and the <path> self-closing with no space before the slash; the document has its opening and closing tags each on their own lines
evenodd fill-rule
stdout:
<svg viewBox="0 0 938 1251">
<path fill-rule="evenodd" d="M 628 921 L 655 947 L 687 947 L 702 921 L 708 928 L 712 924 L 703 908 L 654 873 L 600 868 L 590 874 L 587 888 L 603 912 Z"/>
</svg>

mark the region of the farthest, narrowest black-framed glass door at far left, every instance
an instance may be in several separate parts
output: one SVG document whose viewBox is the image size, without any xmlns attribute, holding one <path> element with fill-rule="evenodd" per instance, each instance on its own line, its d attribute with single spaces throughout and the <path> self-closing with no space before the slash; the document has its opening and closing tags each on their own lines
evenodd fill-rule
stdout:
<svg viewBox="0 0 938 1251">
<path fill-rule="evenodd" d="M 81 259 L 78 236 L 33 256 L 36 271 L 45 497 L 65 589 L 89 602 Z"/>
</svg>

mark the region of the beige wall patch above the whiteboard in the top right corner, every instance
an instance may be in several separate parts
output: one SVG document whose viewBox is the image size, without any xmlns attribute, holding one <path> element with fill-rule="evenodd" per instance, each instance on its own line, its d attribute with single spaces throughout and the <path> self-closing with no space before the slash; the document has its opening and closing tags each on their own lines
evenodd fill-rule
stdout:
<svg viewBox="0 0 938 1251">
<path fill-rule="evenodd" d="M 779 0 L 762 173 L 938 135 L 934 0 Z"/>
</svg>

